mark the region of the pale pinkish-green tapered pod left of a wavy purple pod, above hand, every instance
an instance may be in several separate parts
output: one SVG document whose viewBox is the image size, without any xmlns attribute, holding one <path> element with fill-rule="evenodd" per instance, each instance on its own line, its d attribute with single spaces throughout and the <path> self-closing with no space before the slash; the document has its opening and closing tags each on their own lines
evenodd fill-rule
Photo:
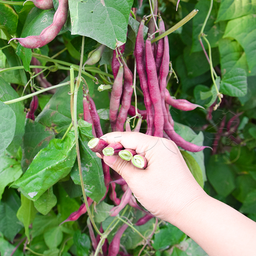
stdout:
<svg viewBox="0 0 256 256">
<path fill-rule="evenodd" d="M 110 104 L 109 104 L 109 121 L 111 124 L 112 132 L 114 132 L 116 118 L 118 115 L 118 110 L 120 106 L 120 99 L 123 92 L 123 75 L 124 75 L 124 68 L 123 65 L 119 66 L 118 73 L 116 75 L 112 91 L 110 97 Z"/>
</svg>

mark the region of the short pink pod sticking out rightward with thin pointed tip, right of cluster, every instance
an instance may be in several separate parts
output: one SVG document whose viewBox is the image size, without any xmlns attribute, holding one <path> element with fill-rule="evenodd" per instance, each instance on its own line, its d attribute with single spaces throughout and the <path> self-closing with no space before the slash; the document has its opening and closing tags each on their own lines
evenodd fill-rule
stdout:
<svg viewBox="0 0 256 256">
<path fill-rule="evenodd" d="M 171 105 L 172 107 L 183 110 L 183 111 L 194 110 L 197 107 L 203 108 L 202 106 L 191 103 L 185 99 L 179 99 L 179 100 L 173 99 L 167 89 L 164 90 L 164 101 L 169 105 Z"/>
</svg>

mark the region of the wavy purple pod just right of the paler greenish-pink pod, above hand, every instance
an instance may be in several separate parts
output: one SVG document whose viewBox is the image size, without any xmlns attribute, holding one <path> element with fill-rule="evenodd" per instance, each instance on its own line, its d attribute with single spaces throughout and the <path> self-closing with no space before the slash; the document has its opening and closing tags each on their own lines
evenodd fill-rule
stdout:
<svg viewBox="0 0 256 256">
<path fill-rule="evenodd" d="M 117 116 L 117 122 L 115 126 L 115 131 L 123 132 L 124 123 L 127 118 L 128 110 L 131 106 L 132 93 L 133 93 L 133 75 L 131 70 L 128 68 L 124 58 L 121 59 L 124 65 L 124 89 L 123 89 L 123 98 L 121 102 L 121 108 Z"/>
</svg>

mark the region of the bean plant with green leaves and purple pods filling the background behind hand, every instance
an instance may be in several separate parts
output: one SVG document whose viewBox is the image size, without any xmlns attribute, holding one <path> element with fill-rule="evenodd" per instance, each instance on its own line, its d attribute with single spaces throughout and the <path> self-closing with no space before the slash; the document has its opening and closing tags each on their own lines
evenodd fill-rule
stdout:
<svg viewBox="0 0 256 256">
<path fill-rule="evenodd" d="M 110 131 L 256 221 L 255 1 L 33 2 L 0 0 L 1 255 L 206 255 L 88 147 Z"/>
</svg>

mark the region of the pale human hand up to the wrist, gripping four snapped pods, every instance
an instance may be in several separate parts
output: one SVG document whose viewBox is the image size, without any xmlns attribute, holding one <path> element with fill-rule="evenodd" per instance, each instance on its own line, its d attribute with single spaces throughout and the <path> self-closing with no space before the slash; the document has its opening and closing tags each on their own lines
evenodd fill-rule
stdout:
<svg viewBox="0 0 256 256">
<path fill-rule="evenodd" d="M 103 160 L 124 178 L 138 201 L 156 217 L 175 222 L 180 211 L 206 196 L 173 141 L 140 132 L 111 132 L 101 138 L 109 144 L 119 142 L 145 156 L 148 165 L 144 170 L 119 156 L 104 156 Z"/>
</svg>

